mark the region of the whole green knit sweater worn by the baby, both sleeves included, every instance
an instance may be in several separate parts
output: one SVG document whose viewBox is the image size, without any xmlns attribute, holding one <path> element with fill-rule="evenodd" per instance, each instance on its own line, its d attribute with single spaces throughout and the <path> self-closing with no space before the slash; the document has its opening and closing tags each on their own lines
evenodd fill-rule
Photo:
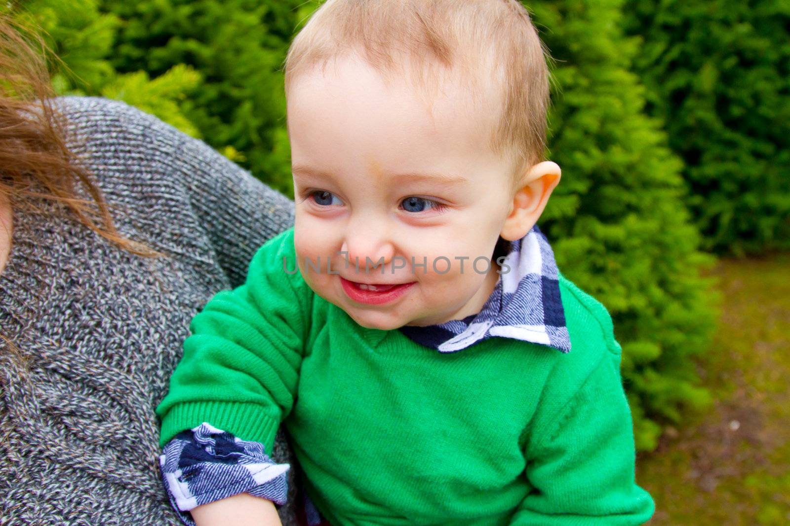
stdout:
<svg viewBox="0 0 790 526">
<path fill-rule="evenodd" d="M 293 229 L 190 326 L 157 408 L 164 446 L 209 422 L 269 452 L 280 422 L 333 524 L 644 524 L 620 345 L 560 274 L 573 347 L 490 338 L 459 353 L 357 325 L 313 293 Z"/>
</svg>

